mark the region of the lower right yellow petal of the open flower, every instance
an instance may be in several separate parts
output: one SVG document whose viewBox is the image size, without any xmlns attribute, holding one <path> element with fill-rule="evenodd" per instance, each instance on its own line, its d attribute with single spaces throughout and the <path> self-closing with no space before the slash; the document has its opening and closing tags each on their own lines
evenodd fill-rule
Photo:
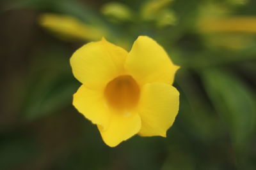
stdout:
<svg viewBox="0 0 256 170">
<path fill-rule="evenodd" d="M 141 92 L 141 136 L 163 136 L 179 111 L 179 92 L 172 85 L 149 83 Z"/>
</svg>

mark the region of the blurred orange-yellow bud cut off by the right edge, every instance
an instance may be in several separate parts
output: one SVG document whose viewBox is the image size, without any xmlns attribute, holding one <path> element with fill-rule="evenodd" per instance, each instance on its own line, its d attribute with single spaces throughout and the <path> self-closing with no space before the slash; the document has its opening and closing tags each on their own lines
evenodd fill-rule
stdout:
<svg viewBox="0 0 256 170">
<path fill-rule="evenodd" d="M 202 32 L 256 33 L 256 17 L 208 18 L 199 24 Z"/>
</svg>

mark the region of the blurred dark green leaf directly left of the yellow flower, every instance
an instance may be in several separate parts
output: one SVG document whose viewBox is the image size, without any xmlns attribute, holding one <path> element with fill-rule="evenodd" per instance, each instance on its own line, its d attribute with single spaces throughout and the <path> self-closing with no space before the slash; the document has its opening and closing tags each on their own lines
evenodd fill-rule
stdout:
<svg viewBox="0 0 256 170">
<path fill-rule="evenodd" d="M 23 117 L 29 121 L 35 120 L 71 104 L 76 88 L 76 83 L 67 76 L 38 75 L 28 87 Z"/>
</svg>

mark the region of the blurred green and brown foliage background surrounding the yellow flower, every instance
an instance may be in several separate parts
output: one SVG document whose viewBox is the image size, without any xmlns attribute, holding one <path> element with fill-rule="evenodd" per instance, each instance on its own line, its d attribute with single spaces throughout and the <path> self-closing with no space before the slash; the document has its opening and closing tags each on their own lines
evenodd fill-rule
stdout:
<svg viewBox="0 0 256 170">
<path fill-rule="evenodd" d="M 255 0 L 1 1 L 0 169 L 256 169 Z M 167 138 L 106 146 L 72 106 L 69 59 L 139 35 L 181 69 Z"/>
</svg>

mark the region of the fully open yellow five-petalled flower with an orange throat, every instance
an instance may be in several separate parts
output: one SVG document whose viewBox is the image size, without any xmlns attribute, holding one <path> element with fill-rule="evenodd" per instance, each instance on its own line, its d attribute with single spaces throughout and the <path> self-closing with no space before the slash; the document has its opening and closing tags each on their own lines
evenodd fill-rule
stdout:
<svg viewBox="0 0 256 170">
<path fill-rule="evenodd" d="M 166 137 L 179 110 L 179 92 L 172 86 L 179 66 L 156 41 L 140 36 L 128 53 L 102 38 L 79 48 L 70 63 L 83 83 L 73 104 L 97 124 L 107 145 L 134 134 Z"/>
</svg>

